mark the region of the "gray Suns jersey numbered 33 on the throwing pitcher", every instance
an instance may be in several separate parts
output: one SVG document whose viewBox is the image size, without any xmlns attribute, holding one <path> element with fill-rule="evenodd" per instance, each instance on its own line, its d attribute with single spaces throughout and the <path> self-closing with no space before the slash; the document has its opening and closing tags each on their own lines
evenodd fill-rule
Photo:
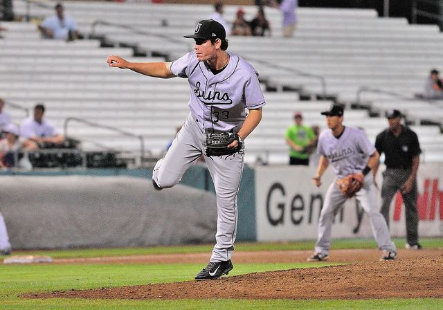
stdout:
<svg viewBox="0 0 443 310">
<path fill-rule="evenodd" d="M 253 66 L 242 57 L 228 54 L 228 65 L 217 74 L 197 60 L 195 51 L 170 64 L 174 75 L 188 78 L 189 107 L 204 129 L 238 130 L 246 118 L 246 108 L 258 109 L 265 104 Z"/>
</svg>

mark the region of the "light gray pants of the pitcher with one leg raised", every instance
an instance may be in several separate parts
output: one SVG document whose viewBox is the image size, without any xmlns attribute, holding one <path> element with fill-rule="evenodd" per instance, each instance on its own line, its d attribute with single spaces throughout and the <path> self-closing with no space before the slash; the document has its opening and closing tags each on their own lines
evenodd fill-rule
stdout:
<svg viewBox="0 0 443 310">
<path fill-rule="evenodd" d="M 206 134 L 190 114 L 168 153 L 156 163 L 152 179 L 161 188 L 172 188 L 179 183 L 188 167 L 204 154 L 205 144 Z M 243 158 L 243 152 L 230 156 L 205 156 L 217 198 L 217 244 L 210 262 L 224 262 L 233 254 L 238 219 L 237 192 L 242 178 Z"/>
</svg>

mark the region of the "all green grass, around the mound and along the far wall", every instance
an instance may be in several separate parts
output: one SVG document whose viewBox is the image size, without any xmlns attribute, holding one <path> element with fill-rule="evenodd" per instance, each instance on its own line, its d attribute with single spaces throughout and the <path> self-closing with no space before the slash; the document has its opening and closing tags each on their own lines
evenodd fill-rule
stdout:
<svg viewBox="0 0 443 310">
<path fill-rule="evenodd" d="M 396 240 L 404 246 L 404 240 Z M 422 239 L 426 248 L 443 247 L 441 239 Z M 238 244 L 237 250 L 311 250 L 313 241 L 288 244 Z M 373 248 L 372 239 L 335 240 L 334 248 Z M 156 253 L 195 253 L 212 246 L 161 246 L 129 249 L 26 251 L 52 257 L 93 257 Z M 15 251 L 14 254 L 19 254 Z M 328 266 L 329 264 L 315 264 Z M 312 264 L 235 264 L 229 275 L 305 268 Z M 442 299 L 390 300 L 27 300 L 20 293 L 91 289 L 192 280 L 201 264 L 0 264 L 0 309 L 443 309 Z M 300 296 L 302 298 L 302 296 Z"/>
</svg>

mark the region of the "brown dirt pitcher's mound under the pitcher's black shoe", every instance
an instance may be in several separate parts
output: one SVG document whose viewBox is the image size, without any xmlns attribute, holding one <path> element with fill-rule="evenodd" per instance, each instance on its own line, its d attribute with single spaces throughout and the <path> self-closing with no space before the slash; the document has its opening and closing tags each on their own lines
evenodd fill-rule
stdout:
<svg viewBox="0 0 443 310">
<path fill-rule="evenodd" d="M 234 262 L 235 265 L 235 262 Z M 443 255 L 139 286 L 28 293 L 27 298 L 363 299 L 443 298 Z M 234 269 L 235 270 L 235 269 Z"/>
</svg>

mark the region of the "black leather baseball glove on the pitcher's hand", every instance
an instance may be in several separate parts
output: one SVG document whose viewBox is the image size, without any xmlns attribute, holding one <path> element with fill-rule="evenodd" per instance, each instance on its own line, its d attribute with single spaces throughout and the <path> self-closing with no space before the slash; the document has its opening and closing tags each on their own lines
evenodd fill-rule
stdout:
<svg viewBox="0 0 443 310">
<path fill-rule="evenodd" d="M 237 140 L 237 147 L 228 147 Z M 239 152 L 242 149 L 242 139 L 238 134 L 217 132 L 206 134 L 206 156 L 224 156 Z"/>
</svg>

